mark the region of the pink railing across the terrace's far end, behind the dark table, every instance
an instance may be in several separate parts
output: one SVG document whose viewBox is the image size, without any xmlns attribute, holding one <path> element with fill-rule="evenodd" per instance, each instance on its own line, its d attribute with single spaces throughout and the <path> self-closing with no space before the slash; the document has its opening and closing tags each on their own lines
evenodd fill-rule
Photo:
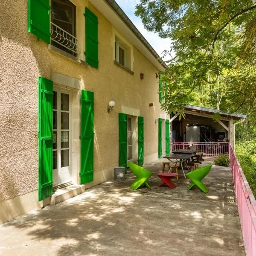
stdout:
<svg viewBox="0 0 256 256">
<path fill-rule="evenodd" d="M 173 142 L 171 143 L 171 152 L 178 149 L 188 149 L 191 144 L 195 146 L 197 152 L 203 152 L 204 157 L 217 157 L 218 155 L 227 154 L 229 148 L 228 142 Z"/>
</svg>

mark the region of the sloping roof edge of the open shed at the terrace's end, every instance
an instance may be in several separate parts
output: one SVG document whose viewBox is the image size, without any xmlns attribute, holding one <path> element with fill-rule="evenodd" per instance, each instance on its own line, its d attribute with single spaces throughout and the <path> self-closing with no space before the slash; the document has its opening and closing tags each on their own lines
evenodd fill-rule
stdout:
<svg viewBox="0 0 256 256">
<path fill-rule="evenodd" d="M 189 113 L 196 116 L 204 116 L 204 117 L 210 117 L 213 114 L 218 113 L 223 120 L 231 119 L 231 118 L 235 120 L 239 120 L 239 119 L 246 118 L 246 115 L 241 113 L 226 113 L 226 112 L 221 112 L 220 110 L 214 109 L 214 108 L 204 108 L 204 107 L 193 106 L 193 105 L 186 105 L 185 113 Z"/>
</svg>

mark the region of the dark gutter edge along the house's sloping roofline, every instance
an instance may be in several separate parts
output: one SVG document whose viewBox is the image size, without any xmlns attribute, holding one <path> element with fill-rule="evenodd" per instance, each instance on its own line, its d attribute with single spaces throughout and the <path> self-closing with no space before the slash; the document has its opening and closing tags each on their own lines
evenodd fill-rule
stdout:
<svg viewBox="0 0 256 256">
<path fill-rule="evenodd" d="M 116 14 L 123 20 L 123 22 L 131 29 L 134 35 L 145 45 L 145 47 L 151 52 L 154 58 L 162 65 L 162 67 L 167 68 L 168 66 L 162 60 L 162 58 L 157 54 L 154 48 L 148 43 L 148 41 L 144 38 L 144 36 L 140 33 L 137 27 L 132 23 L 129 17 L 125 14 L 125 12 L 121 9 L 121 7 L 116 3 L 115 0 L 104 0 L 108 5 L 116 12 Z"/>
</svg>

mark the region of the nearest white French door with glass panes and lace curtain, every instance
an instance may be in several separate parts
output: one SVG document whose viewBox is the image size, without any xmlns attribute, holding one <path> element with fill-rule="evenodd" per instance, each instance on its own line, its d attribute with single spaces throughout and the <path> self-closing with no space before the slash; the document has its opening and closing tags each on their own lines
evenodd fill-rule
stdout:
<svg viewBox="0 0 256 256">
<path fill-rule="evenodd" d="M 70 93 L 53 89 L 53 186 L 71 182 Z"/>
</svg>

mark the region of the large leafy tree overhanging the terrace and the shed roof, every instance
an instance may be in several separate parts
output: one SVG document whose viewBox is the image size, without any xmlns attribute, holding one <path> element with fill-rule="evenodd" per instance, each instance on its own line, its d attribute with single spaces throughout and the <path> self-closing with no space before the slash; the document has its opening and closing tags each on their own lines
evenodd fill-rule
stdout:
<svg viewBox="0 0 256 256">
<path fill-rule="evenodd" d="M 172 44 L 163 73 L 163 109 L 183 113 L 191 102 L 256 117 L 256 4 L 254 0 L 141 0 L 146 29 Z M 207 95 L 206 95 L 207 94 Z"/>
</svg>

